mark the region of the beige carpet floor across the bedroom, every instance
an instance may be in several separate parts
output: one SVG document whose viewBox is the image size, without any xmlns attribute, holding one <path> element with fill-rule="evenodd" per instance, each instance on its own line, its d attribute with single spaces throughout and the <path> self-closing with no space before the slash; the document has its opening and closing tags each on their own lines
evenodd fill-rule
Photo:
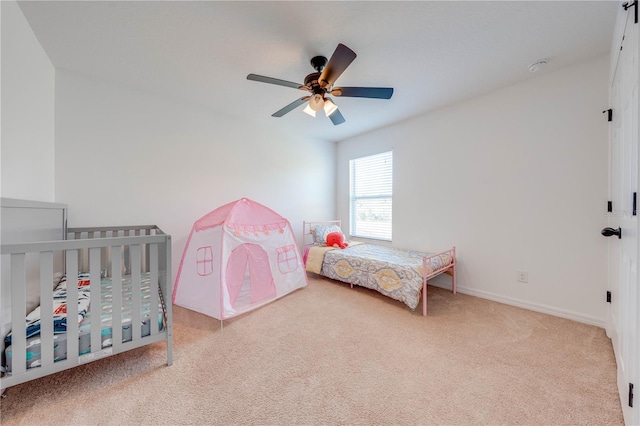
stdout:
<svg viewBox="0 0 640 426">
<path fill-rule="evenodd" d="M 309 287 L 224 323 L 8 390 L 2 425 L 622 424 L 603 329 L 429 287 L 429 316 Z"/>
</svg>

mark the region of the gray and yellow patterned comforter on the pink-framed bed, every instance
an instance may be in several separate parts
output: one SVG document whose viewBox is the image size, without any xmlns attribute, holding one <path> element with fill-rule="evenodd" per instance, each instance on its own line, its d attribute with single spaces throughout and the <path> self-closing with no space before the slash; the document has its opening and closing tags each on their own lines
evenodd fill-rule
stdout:
<svg viewBox="0 0 640 426">
<path fill-rule="evenodd" d="M 326 251 L 320 274 L 376 290 L 414 310 L 422 290 L 422 259 L 427 255 L 390 246 L 358 244 Z M 427 276 L 446 269 L 452 261 L 450 252 L 430 258 Z"/>
</svg>

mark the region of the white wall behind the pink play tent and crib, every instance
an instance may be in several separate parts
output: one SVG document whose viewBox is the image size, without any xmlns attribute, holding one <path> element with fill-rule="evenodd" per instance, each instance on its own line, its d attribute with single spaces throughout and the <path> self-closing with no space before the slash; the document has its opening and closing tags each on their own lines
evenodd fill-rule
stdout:
<svg viewBox="0 0 640 426">
<path fill-rule="evenodd" d="M 58 70 L 56 201 L 70 226 L 156 224 L 173 274 L 193 222 L 242 197 L 286 217 L 333 217 L 335 144 Z"/>
</svg>

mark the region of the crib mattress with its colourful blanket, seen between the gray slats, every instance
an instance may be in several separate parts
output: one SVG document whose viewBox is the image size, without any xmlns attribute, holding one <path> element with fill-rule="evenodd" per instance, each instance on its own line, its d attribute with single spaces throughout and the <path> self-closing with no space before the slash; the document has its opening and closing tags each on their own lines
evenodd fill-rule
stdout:
<svg viewBox="0 0 640 426">
<path fill-rule="evenodd" d="M 101 341 L 102 349 L 112 346 L 113 332 L 113 305 L 112 305 L 112 281 L 111 278 L 102 278 L 101 280 L 101 306 L 96 310 L 95 307 L 89 306 L 89 287 L 88 275 L 83 273 L 78 276 L 78 321 L 79 321 L 79 355 L 91 352 L 91 321 L 97 318 L 101 322 Z M 132 339 L 132 316 L 133 301 L 131 277 L 122 279 L 122 342 L 128 342 Z M 152 315 L 150 306 L 151 287 L 149 274 L 142 274 L 140 283 L 141 292 L 141 335 L 148 336 L 151 332 L 151 321 L 158 321 L 158 328 L 163 329 L 162 305 L 159 304 Z M 64 295 L 64 299 L 62 298 Z M 86 307 L 85 307 L 86 305 Z M 67 335 L 66 335 L 66 284 L 64 279 L 54 290 L 54 361 L 61 361 L 67 358 Z M 98 314 L 98 315 L 97 315 Z M 39 367 L 41 363 L 40 350 L 40 318 L 39 307 L 27 316 L 27 369 Z M 11 334 L 5 338 L 5 369 L 11 371 L 13 361 L 11 350 Z"/>
</svg>

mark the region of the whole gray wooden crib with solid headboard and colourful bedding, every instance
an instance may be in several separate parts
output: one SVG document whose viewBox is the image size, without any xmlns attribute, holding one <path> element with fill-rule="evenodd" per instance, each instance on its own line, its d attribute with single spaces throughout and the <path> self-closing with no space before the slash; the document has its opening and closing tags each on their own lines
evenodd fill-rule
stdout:
<svg viewBox="0 0 640 426">
<path fill-rule="evenodd" d="M 1 207 L 2 391 L 158 341 L 171 365 L 169 235 L 67 229 L 63 204 L 3 198 Z"/>
</svg>

